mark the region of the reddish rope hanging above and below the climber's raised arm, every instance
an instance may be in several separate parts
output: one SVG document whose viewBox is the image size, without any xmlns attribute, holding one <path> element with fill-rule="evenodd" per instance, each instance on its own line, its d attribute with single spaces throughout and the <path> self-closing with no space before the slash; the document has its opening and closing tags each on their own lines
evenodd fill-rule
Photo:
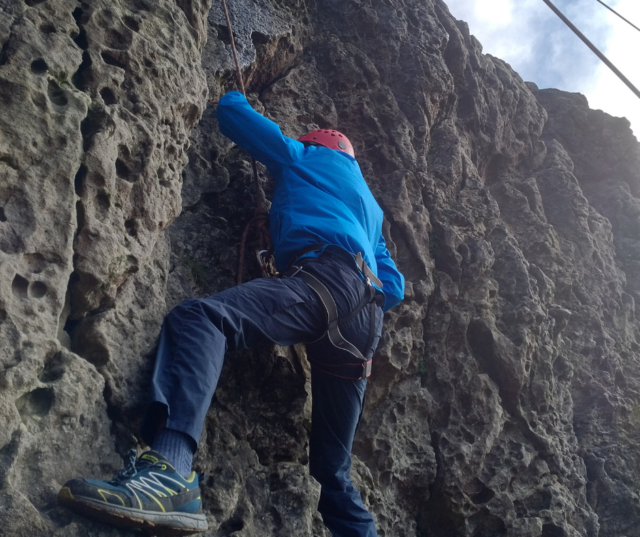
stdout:
<svg viewBox="0 0 640 537">
<path fill-rule="evenodd" d="M 231 50 L 233 52 L 233 61 L 236 64 L 236 72 L 238 74 L 238 82 L 240 84 L 240 90 L 246 97 L 247 93 L 244 88 L 244 80 L 242 78 L 242 70 L 240 69 L 240 62 L 238 61 L 238 52 L 236 50 L 236 42 L 233 38 L 233 29 L 231 27 L 231 18 L 229 17 L 229 10 L 227 9 L 226 0 L 222 0 L 222 8 L 224 9 L 224 16 L 227 20 L 227 28 L 229 29 L 229 37 L 231 40 Z M 253 218 L 249 220 L 248 224 L 244 228 L 242 234 L 242 240 L 240 241 L 240 255 L 238 258 L 238 277 L 237 284 L 242 283 L 242 273 L 244 271 L 244 254 L 246 250 L 247 238 L 249 231 L 252 227 L 255 228 L 255 236 L 258 243 L 256 249 L 256 258 L 260 265 L 260 271 L 264 278 L 268 278 L 273 270 L 271 269 L 270 259 L 273 248 L 271 246 L 271 235 L 269 233 L 269 213 L 265 209 L 266 199 L 262 188 L 260 188 L 260 180 L 258 179 L 258 168 L 256 166 L 256 160 L 251 158 L 251 168 L 253 169 L 253 183 L 256 192 L 256 209 L 253 214 Z"/>
</svg>

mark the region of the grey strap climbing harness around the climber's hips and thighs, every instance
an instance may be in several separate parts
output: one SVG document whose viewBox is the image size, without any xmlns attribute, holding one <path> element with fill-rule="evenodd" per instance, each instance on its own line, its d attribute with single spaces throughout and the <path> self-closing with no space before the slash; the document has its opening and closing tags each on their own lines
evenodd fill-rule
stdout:
<svg viewBox="0 0 640 537">
<path fill-rule="evenodd" d="M 294 263 L 296 260 L 299 260 L 302 256 L 308 253 L 316 252 L 327 247 L 328 245 L 326 244 L 313 244 L 306 248 L 303 248 L 294 256 Z M 318 357 L 310 353 L 309 362 L 311 362 L 314 367 L 317 367 L 321 371 L 324 371 L 325 373 L 334 377 L 350 380 L 361 380 L 371 375 L 372 358 L 369 357 L 368 354 L 371 352 L 373 340 L 375 339 L 376 335 L 376 307 L 382 306 L 383 304 L 383 297 L 381 294 L 376 292 L 373 283 L 382 288 L 382 282 L 375 276 L 375 274 L 373 274 L 373 271 L 364 261 L 364 259 L 362 258 L 362 253 L 354 255 L 337 246 L 331 248 L 332 252 L 340 252 L 338 253 L 340 257 L 344 257 L 347 259 L 348 256 L 352 257 L 351 261 L 355 261 L 356 266 L 364 277 L 367 286 L 367 291 L 364 293 L 362 299 L 360 300 L 360 303 L 349 314 L 345 315 L 344 317 L 338 316 L 338 307 L 336 305 L 335 299 L 333 298 L 333 295 L 318 278 L 304 270 L 304 265 L 291 264 L 290 268 L 285 273 L 285 277 L 300 278 L 309 287 L 311 287 L 311 289 L 313 289 L 318 295 L 318 298 L 320 299 L 320 302 L 322 302 L 322 305 L 324 306 L 325 312 L 327 314 L 327 330 L 322 334 L 320 338 L 307 344 L 307 349 L 312 349 L 313 344 L 317 344 L 319 342 L 322 342 L 322 340 L 326 340 L 335 349 L 338 349 L 339 351 L 342 351 L 348 355 L 348 357 L 346 357 L 346 359 L 340 364 L 328 364 L 326 362 L 320 361 Z M 344 336 L 340 332 L 340 325 L 357 317 L 360 312 L 367 306 L 367 304 L 370 308 L 369 338 L 365 346 L 365 354 L 363 354 L 355 345 L 344 338 Z M 335 350 L 332 354 L 335 355 Z M 354 359 L 355 362 L 353 361 Z"/>
</svg>

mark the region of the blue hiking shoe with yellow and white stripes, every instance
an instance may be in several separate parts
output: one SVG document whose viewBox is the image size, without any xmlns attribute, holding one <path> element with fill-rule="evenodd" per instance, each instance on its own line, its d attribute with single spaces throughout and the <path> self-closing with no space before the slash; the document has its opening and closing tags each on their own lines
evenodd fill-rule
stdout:
<svg viewBox="0 0 640 537">
<path fill-rule="evenodd" d="M 195 472 L 185 479 L 156 451 L 136 460 L 131 450 L 128 457 L 126 468 L 111 481 L 67 481 L 58 503 L 94 520 L 151 535 L 189 535 L 207 529 Z"/>
</svg>

